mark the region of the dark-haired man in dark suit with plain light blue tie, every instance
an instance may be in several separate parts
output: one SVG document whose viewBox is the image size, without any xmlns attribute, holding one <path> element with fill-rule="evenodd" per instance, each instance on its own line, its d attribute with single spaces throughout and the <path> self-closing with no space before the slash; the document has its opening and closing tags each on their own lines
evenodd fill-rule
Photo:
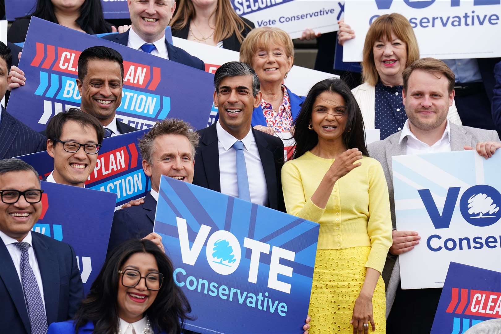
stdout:
<svg viewBox="0 0 501 334">
<path fill-rule="evenodd" d="M 214 75 L 219 120 L 198 131 L 193 184 L 285 212 L 280 138 L 250 126 L 261 102 L 259 79 L 249 66 L 229 62 Z"/>
</svg>

